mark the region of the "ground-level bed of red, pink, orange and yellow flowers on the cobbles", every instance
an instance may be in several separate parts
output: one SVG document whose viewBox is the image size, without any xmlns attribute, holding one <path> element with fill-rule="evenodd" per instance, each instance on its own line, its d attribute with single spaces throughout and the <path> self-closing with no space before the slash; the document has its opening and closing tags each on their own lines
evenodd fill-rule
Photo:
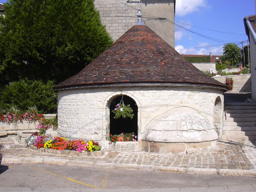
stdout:
<svg viewBox="0 0 256 192">
<path fill-rule="evenodd" d="M 82 156 L 100 155 L 103 147 L 95 141 L 83 141 L 81 139 L 70 140 L 65 137 L 52 137 L 51 135 L 39 135 L 38 132 L 32 134 L 29 138 L 25 140 L 25 143 L 31 149 L 38 149 L 41 152 L 51 152 L 59 154 L 73 154 L 86 153 Z M 32 147 L 31 147 L 32 146 Z M 48 150 L 49 149 L 49 150 Z M 67 151 L 67 152 L 57 152 L 57 151 Z"/>
</svg>

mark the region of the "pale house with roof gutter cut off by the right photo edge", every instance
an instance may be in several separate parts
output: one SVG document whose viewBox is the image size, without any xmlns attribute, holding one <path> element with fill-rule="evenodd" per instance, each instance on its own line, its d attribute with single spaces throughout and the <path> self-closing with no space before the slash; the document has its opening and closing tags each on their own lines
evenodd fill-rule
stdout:
<svg viewBox="0 0 256 192">
<path fill-rule="evenodd" d="M 256 15 L 245 17 L 243 21 L 250 42 L 252 99 L 256 101 Z"/>
</svg>

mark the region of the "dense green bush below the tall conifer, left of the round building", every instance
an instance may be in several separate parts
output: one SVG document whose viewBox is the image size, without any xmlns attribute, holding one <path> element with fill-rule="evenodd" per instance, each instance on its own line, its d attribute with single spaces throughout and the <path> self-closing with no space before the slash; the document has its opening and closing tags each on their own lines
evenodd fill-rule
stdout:
<svg viewBox="0 0 256 192">
<path fill-rule="evenodd" d="M 25 111 L 29 106 L 36 106 L 41 113 L 55 113 L 57 94 L 53 91 L 54 83 L 48 81 L 30 81 L 28 79 L 13 82 L 0 89 L 0 109 L 16 107 Z"/>
</svg>

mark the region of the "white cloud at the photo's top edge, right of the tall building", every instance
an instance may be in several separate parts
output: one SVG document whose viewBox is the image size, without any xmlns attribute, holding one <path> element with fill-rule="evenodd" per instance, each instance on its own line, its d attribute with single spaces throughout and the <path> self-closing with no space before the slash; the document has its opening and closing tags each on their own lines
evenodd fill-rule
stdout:
<svg viewBox="0 0 256 192">
<path fill-rule="evenodd" d="M 198 11 L 200 8 L 210 8 L 210 6 L 207 5 L 206 0 L 176 0 L 175 15 L 184 16 Z"/>
</svg>

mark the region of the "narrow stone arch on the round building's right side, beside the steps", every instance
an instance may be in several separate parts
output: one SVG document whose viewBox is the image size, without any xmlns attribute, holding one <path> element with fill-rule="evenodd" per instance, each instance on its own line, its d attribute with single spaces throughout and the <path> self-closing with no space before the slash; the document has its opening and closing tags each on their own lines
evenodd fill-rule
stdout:
<svg viewBox="0 0 256 192">
<path fill-rule="evenodd" d="M 222 127 L 223 127 L 223 104 L 221 97 L 217 96 L 214 102 L 214 128 L 220 139 L 222 136 Z"/>
</svg>

